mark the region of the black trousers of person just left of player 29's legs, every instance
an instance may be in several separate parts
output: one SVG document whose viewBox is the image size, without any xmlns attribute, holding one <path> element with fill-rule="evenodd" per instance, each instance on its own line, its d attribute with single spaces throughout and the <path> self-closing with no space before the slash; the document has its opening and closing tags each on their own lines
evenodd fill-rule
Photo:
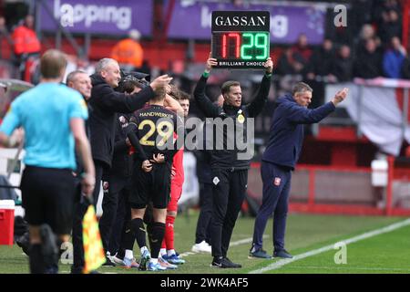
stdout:
<svg viewBox="0 0 410 292">
<path fill-rule="evenodd" d="M 99 232 L 104 250 L 111 254 L 110 241 L 114 236 L 114 241 L 117 243 L 117 249 L 121 237 L 122 226 L 125 221 L 126 205 L 125 198 L 128 200 L 130 192 L 130 178 L 118 175 L 110 175 L 108 178 L 108 192 L 104 193 L 102 202 L 103 214 L 99 220 Z M 123 198 L 125 197 L 125 198 Z M 121 208 L 118 208 L 119 200 L 121 199 Z M 120 217 L 118 218 L 118 210 Z M 118 219 L 118 222 L 117 222 Z M 115 254 L 111 254 L 115 255 Z"/>
</svg>

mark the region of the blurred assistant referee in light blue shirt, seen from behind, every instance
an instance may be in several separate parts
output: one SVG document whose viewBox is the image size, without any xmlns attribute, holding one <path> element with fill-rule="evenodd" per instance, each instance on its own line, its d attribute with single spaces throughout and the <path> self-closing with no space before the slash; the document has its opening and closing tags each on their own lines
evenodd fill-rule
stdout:
<svg viewBox="0 0 410 292">
<path fill-rule="evenodd" d="M 10 137 L 13 131 L 19 127 L 25 130 L 26 168 L 20 188 L 29 224 L 31 273 L 58 271 L 54 234 L 62 243 L 68 241 L 71 231 L 75 146 L 85 169 L 83 193 L 91 195 L 95 185 L 84 126 L 87 106 L 76 90 L 60 84 L 66 66 L 63 53 L 46 51 L 40 60 L 40 84 L 15 99 L 0 127 L 0 141 L 10 147 L 15 144 L 15 136 Z"/>
</svg>

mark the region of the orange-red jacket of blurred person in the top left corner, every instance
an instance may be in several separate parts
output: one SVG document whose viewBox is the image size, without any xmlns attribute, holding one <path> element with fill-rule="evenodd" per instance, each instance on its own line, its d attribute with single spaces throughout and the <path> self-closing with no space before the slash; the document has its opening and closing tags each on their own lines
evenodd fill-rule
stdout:
<svg viewBox="0 0 410 292">
<path fill-rule="evenodd" d="M 26 26 L 17 26 L 13 32 L 12 39 L 14 41 L 15 55 L 40 52 L 40 41 L 33 29 Z"/>
</svg>

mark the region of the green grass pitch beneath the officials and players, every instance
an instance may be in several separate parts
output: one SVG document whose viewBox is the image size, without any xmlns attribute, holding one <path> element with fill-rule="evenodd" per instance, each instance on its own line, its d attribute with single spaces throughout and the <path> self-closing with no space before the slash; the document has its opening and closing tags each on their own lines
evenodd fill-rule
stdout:
<svg viewBox="0 0 410 292">
<path fill-rule="evenodd" d="M 162 274 L 246 274 L 262 267 L 269 266 L 277 259 L 249 259 L 251 236 L 254 218 L 241 216 L 231 238 L 228 256 L 232 261 L 241 263 L 241 269 L 211 268 L 211 256 L 193 254 L 190 248 L 195 239 L 195 227 L 198 212 L 190 210 L 187 214 L 179 214 L 175 222 L 176 249 L 186 259 L 186 264 L 175 271 L 160 272 Z M 343 239 L 361 235 L 389 224 L 405 220 L 397 217 L 343 216 L 291 214 L 288 218 L 286 248 L 292 255 L 332 245 Z M 327 274 L 327 273 L 410 273 L 410 225 L 406 225 L 389 233 L 375 235 L 347 245 L 346 264 L 335 264 L 336 249 L 319 255 L 313 255 L 294 261 L 277 269 L 266 271 L 272 274 Z M 272 254 L 272 219 L 267 224 L 264 247 Z M 139 255 L 135 245 L 134 254 Z M 138 257 L 137 257 L 138 258 Z M 60 265 L 60 273 L 69 273 L 69 265 Z M 100 273 L 141 274 L 141 272 L 120 267 L 100 267 Z M 28 258 L 17 246 L 0 246 L 0 274 L 28 273 Z"/>
</svg>

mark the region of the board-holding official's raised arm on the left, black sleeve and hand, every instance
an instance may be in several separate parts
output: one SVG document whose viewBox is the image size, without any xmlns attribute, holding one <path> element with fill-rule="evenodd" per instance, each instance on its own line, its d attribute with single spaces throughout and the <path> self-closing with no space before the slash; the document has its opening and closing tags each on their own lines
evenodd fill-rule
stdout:
<svg viewBox="0 0 410 292">
<path fill-rule="evenodd" d="M 200 76 L 200 80 L 194 90 L 194 99 L 198 103 L 200 110 L 205 114 L 207 118 L 216 118 L 220 114 L 220 108 L 214 105 L 210 99 L 205 95 L 205 88 L 207 80 L 210 77 L 210 70 L 212 66 L 217 65 L 215 58 L 209 57 L 205 67 L 205 71 Z"/>
</svg>

